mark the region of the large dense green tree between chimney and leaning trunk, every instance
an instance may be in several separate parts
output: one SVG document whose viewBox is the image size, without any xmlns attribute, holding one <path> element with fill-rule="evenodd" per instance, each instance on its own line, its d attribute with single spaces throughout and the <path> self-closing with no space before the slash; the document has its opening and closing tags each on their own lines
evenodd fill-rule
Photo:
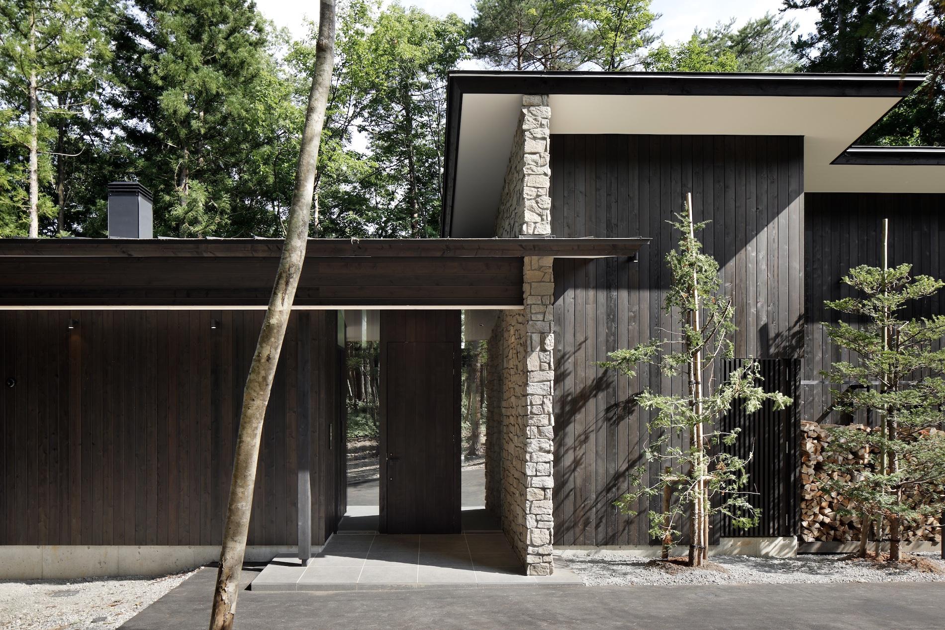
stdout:
<svg viewBox="0 0 945 630">
<path fill-rule="evenodd" d="M 155 192 L 159 232 L 249 235 L 243 213 L 270 172 L 260 182 L 247 166 L 284 146 L 281 116 L 298 117 L 280 106 L 291 92 L 279 85 L 275 42 L 246 0 L 137 0 L 122 15 L 112 107 L 123 114 L 125 169 Z M 290 186 L 283 213 L 269 209 L 270 232 L 282 233 Z"/>
</svg>

